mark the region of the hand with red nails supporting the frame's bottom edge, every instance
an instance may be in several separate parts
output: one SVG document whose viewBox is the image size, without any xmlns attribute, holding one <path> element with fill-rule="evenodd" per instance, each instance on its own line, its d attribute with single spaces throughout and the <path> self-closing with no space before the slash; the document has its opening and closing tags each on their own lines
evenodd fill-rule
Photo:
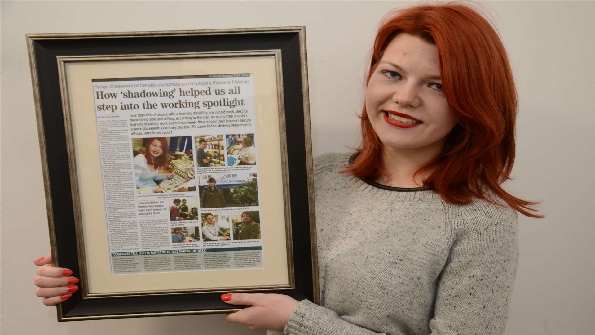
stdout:
<svg viewBox="0 0 595 335">
<path fill-rule="evenodd" d="M 235 313 L 227 314 L 229 322 L 248 324 L 252 330 L 283 330 L 299 301 L 290 296 L 274 293 L 227 293 L 221 300 L 231 305 L 251 305 Z"/>
</svg>

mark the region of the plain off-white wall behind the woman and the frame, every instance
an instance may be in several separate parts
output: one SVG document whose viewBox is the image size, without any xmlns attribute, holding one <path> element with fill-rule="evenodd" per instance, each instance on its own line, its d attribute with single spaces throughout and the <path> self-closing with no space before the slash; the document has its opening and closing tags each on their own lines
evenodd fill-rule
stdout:
<svg viewBox="0 0 595 335">
<path fill-rule="evenodd" d="M 55 321 L 33 294 L 46 209 L 25 33 L 307 27 L 314 153 L 356 145 L 362 78 L 378 20 L 414 2 L 1 1 L 2 334 L 255 334 L 222 315 Z M 520 96 L 516 195 L 543 220 L 519 219 L 521 258 L 506 334 L 581 334 L 592 317 L 595 2 L 488 2 Z M 22 180 L 27 180 L 25 187 Z M 40 228 L 43 234 L 30 234 Z M 21 250 L 17 252 L 17 250 Z M 591 331 L 590 331 L 591 330 Z M 262 332 L 261 332 L 262 333 Z"/>
</svg>

